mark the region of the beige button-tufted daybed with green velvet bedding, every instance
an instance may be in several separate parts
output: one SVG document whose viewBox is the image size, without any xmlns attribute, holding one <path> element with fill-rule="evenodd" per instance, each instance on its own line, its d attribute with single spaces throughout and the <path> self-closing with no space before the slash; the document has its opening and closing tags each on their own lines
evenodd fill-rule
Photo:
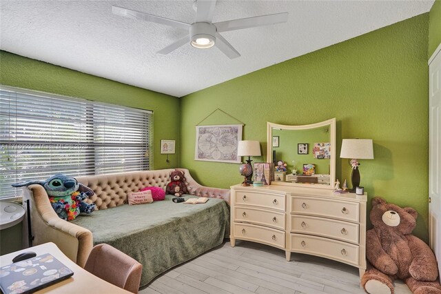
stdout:
<svg viewBox="0 0 441 294">
<path fill-rule="evenodd" d="M 94 245 L 110 244 L 143 264 L 141 286 L 145 286 L 156 275 L 218 246 L 229 235 L 229 190 L 201 186 L 183 168 L 177 170 L 183 171 L 189 194 L 210 197 L 207 203 L 176 204 L 172 195 L 166 195 L 164 201 L 152 204 L 127 204 L 129 192 L 145 186 L 165 189 L 173 170 L 77 177 L 94 190 L 88 201 L 97 210 L 72 222 L 57 216 L 42 186 L 25 188 L 33 244 L 54 242 L 79 266 L 84 266 Z"/>
</svg>

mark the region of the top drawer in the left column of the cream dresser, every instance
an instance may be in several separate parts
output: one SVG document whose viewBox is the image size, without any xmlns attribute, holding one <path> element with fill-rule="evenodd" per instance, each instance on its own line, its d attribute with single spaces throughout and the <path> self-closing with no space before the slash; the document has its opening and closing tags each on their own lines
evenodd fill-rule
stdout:
<svg viewBox="0 0 441 294">
<path fill-rule="evenodd" d="M 285 195 L 238 191 L 234 194 L 234 204 L 285 211 Z"/>
</svg>

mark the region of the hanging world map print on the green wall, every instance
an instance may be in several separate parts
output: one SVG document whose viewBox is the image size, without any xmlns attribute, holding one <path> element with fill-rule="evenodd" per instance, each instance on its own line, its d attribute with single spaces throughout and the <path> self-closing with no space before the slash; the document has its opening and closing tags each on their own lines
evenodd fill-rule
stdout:
<svg viewBox="0 0 441 294">
<path fill-rule="evenodd" d="M 241 124 L 196 126 L 194 159 L 240 164 L 238 141 L 242 139 Z"/>
</svg>

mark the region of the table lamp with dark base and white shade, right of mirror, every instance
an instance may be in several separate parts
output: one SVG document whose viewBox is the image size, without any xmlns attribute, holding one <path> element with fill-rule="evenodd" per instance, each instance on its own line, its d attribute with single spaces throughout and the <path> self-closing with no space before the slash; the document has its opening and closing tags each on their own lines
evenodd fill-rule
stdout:
<svg viewBox="0 0 441 294">
<path fill-rule="evenodd" d="M 351 159 L 352 189 L 350 192 L 354 193 L 356 188 L 360 186 L 360 171 L 358 170 L 360 164 L 357 159 L 373 159 L 372 139 L 343 139 L 340 158 Z"/>
</svg>

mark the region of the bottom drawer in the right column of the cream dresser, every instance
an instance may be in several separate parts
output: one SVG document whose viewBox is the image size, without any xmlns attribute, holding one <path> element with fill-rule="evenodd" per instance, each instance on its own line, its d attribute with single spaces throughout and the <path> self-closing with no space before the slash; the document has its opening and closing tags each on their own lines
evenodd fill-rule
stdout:
<svg viewBox="0 0 441 294">
<path fill-rule="evenodd" d="M 291 234 L 291 251 L 318 255 L 358 266 L 360 249 L 357 245 L 322 237 Z"/>
</svg>

